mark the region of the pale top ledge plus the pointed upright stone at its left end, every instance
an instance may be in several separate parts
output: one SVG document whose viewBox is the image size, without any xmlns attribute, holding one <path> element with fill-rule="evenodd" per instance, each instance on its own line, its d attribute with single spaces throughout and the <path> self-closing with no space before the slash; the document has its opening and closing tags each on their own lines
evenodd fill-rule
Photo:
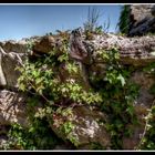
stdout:
<svg viewBox="0 0 155 155">
<path fill-rule="evenodd" d="M 86 61 L 89 60 L 91 63 L 90 58 L 92 58 L 94 63 L 97 63 L 101 62 L 101 60 L 96 51 L 103 50 L 104 52 L 104 50 L 111 50 L 112 46 L 116 46 L 121 54 L 121 61 L 124 64 L 142 66 L 155 61 L 155 55 L 153 54 L 155 50 L 154 35 L 126 38 L 107 33 L 94 34 L 93 40 L 85 41 L 82 35 L 76 34 L 76 31 L 72 33 L 70 55 L 74 60 L 83 62 L 84 59 Z M 87 49 L 86 46 L 91 48 Z"/>
</svg>

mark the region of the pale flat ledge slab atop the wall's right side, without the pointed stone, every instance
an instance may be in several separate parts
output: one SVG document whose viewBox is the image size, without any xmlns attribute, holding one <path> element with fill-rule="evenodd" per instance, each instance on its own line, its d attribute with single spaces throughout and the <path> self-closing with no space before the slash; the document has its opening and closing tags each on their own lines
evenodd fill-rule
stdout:
<svg viewBox="0 0 155 155">
<path fill-rule="evenodd" d="M 145 66 L 155 61 L 153 54 L 155 50 L 155 37 L 141 37 L 141 38 L 125 38 L 114 34 L 96 35 L 95 40 L 90 41 L 95 51 L 111 50 L 116 46 L 120 51 L 121 62 L 123 64 Z M 94 62 L 101 62 L 97 58 L 97 52 L 93 53 Z"/>
</svg>

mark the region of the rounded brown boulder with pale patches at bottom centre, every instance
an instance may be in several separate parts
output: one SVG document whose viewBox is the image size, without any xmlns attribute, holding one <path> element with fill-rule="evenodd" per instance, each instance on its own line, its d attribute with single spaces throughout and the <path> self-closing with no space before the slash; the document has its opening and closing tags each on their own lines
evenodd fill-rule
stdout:
<svg viewBox="0 0 155 155">
<path fill-rule="evenodd" d="M 60 116 L 59 120 L 63 120 L 63 116 Z M 56 121 L 55 118 L 51 127 L 63 140 L 74 137 L 81 147 L 91 143 L 99 143 L 106 148 L 110 146 L 110 135 L 105 130 L 104 123 L 101 123 L 106 122 L 106 115 L 100 111 L 91 110 L 86 106 L 74 107 L 73 115 L 68 117 L 68 121 L 74 124 L 74 127 L 66 135 L 60 132 L 62 124 L 58 125 Z"/>
</svg>

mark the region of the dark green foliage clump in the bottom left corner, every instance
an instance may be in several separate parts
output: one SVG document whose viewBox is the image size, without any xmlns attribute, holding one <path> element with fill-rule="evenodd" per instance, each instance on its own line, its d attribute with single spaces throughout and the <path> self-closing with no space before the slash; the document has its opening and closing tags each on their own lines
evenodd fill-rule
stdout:
<svg viewBox="0 0 155 155">
<path fill-rule="evenodd" d="M 52 149 L 61 142 L 48 127 L 48 122 L 38 118 L 28 128 L 12 124 L 8 138 L 4 149 Z"/>
</svg>

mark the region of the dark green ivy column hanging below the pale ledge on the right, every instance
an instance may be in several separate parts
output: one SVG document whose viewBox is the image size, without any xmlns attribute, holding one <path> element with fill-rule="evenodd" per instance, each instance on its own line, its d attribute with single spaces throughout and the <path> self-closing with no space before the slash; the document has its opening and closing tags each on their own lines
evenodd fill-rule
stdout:
<svg viewBox="0 0 155 155">
<path fill-rule="evenodd" d="M 112 148 L 122 149 L 123 137 L 132 136 L 128 124 L 136 124 L 134 101 L 138 95 L 138 85 L 130 81 L 130 70 L 120 64 L 116 48 L 110 51 L 97 51 L 106 63 L 105 75 L 97 80 L 96 90 L 102 94 L 101 110 L 107 113 L 108 123 L 105 125 L 111 134 Z M 103 85 L 101 87 L 101 85 Z"/>
</svg>

